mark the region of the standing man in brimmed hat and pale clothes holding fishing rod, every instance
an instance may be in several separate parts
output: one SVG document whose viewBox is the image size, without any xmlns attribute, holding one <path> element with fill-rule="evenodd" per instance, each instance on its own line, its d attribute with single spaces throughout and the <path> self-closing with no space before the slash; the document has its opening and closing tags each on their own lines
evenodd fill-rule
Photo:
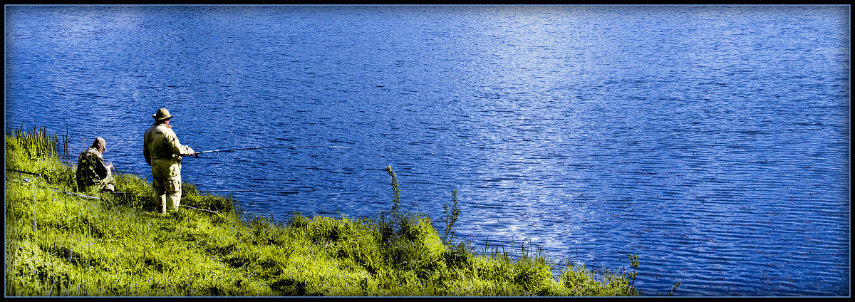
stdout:
<svg viewBox="0 0 855 302">
<path fill-rule="evenodd" d="M 157 205 L 161 214 L 166 214 L 168 208 L 178 210 L 181 203 L 180 156 L 194 156 L 196 151 L 179 143 L 178 136 L 169 125 L 169 119 L 173 116 L 169 115 L 168 110 L 161 108 L 151 117 L 154 117 L 155 123 L 145 131 L 143 155 L 154 176 L 152 187 Z"/>
</svg>

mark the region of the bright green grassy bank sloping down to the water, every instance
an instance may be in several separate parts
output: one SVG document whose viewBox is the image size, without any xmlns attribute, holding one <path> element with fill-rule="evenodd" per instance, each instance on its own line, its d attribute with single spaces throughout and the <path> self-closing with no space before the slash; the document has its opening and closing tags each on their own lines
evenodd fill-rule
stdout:
<svg viewBox="0 0 855 302">
<path fill-rule="evenodd" d="M 569 265 L 556 276 L 540 252 L 441 239 L 428 216 L 399 210 L 391 167 L 394 204 L 377 217 L 270 222 L 188 184 L 181 204 L 218 213 L 161 215 L 137 175 L 116 176 L 126 194 L 64 193 L 74 192 L 74 167 L 56 150 L 41 131 L 6 136 L 6 168 L 40 174 L 6 171 L 6 295 L 640 295 L 628 273 Z M 445 237 L 459 213 L 453 198 Z"/>
</svg>

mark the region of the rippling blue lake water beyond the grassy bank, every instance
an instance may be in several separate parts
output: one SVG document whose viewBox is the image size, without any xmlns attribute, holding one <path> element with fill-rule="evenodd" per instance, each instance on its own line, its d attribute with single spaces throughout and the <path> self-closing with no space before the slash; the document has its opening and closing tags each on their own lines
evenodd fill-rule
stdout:
<svg viewBox="0 0 855 302">
<path fill-rule="evenodd" d="M 848 6 L 7 6 L 5 128 L 255 213 L 439 218 L 646 295 L 850 294 Z M 121 190 L 121 188 L 120 188 Z M 441 222 L 440 222 L 441 223 Z"/>
</svg>

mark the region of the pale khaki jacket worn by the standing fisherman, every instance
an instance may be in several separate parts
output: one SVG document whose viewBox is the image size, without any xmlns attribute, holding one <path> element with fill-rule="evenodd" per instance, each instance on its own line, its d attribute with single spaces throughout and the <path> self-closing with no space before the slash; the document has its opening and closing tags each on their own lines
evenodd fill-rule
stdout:
<svg viewBox="0 0 855 302">
<path fill-rule="evenodd" d="M 181 145 L 172 126 L 155 123 L 145 131 L 143 155 L 154 177 L 181 175 L 181 155 L 191 155 L 193 149 Z"/>
</svg>

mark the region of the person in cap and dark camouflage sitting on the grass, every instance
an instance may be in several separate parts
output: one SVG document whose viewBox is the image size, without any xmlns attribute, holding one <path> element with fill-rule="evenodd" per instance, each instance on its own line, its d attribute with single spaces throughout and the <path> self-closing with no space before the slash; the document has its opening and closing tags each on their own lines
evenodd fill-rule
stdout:
<svg viewBox="0 0 855 302">
<path fill-rule="evenodd" d="M 92 146 L 80 152 L 77 157 L 77 190 L 86 191 L 89 187 L 97 187 L 103 192 L 115 192 L 115 179 L 110 169 L 112 163 L 104 163 L 102 153 L 107 151 L 107 141 L 96 138 Z"/>
</svg>

